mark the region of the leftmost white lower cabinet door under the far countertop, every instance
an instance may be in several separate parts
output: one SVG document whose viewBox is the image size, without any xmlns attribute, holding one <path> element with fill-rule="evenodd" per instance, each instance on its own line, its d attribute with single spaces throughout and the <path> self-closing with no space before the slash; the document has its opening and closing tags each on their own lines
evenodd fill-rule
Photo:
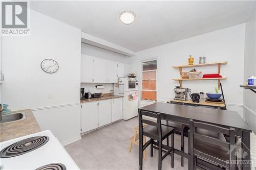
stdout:
<svg viewBox="0 0 256 170">
<path fill-rule="evenodd" d="M 81 132 L 98 128 L 98 102 L 84 103 L 81 110 Z"/>
</svg>

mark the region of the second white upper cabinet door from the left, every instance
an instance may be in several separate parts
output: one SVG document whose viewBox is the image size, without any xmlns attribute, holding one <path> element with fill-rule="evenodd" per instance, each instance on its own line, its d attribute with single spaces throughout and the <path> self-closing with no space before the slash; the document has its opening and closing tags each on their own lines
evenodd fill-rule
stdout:
<svg viewBox="0 0 256 170">
<path fill-rule="evenodd" d="M 94 83 L 108 83 L 107 60 L 94 58 Z"/>
</svg>

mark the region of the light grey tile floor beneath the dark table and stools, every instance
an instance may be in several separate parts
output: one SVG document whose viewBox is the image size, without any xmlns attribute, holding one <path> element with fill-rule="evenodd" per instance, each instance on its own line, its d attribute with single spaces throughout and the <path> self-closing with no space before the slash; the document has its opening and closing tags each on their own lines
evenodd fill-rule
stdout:
<svg viewBox="0 0 256 170">
<path fill-rule="evenodd" d="M 138 146 L 132 145 L 132 152 L 128 151 L 129 139 L 136 125 L 137 117 L 121 120 L 83 135 L 82 139 L 66 145 L 65 149 L 80 169 L 139 169 Z M 175 135 L 175 148 L 180 149 L 179 135 Z M 146 150 L 147 160 L 143 161 L 143 169 L 158 169 L 158 151 L 154 150 L 154 157 L 150 157 L 150 147 Z M 181 167 L 180 156 L 176 154 L 174 165 L 174 169 L 188 169 L 187 159 Z M 163 160 L 162 169 L 172 169 L 170 156 Z"/>
</svg>

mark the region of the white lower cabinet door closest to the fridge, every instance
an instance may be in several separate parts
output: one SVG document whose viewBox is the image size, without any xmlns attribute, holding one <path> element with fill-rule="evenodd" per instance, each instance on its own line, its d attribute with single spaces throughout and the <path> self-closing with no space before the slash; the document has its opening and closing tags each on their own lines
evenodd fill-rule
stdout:
<svg viewBox="0 0 256 170">
<path fill-rule="evenodd" d="M 112 101 L 112 122 L 122 118 L 122 98 L 116 98 Z"/>
</svg>

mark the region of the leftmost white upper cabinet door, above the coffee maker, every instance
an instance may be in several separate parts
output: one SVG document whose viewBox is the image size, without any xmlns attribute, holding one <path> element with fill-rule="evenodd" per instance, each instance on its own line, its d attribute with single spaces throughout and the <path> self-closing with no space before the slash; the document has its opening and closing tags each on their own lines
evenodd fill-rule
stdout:
<svg viewBox="0 0 256 170">
<path fill-rule="evenodd" d="M 94 57 L 81 55 L 81 83 L 93 82 Z"/>
</svg>

